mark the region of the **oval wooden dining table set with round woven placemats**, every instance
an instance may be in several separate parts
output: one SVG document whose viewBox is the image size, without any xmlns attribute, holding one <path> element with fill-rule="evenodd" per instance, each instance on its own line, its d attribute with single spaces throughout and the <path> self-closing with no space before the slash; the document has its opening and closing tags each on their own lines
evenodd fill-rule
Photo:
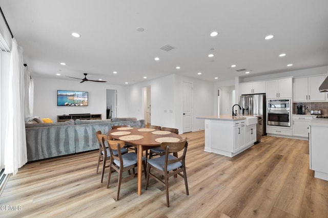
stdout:
<svg viewBox="0 0 328 218">
<path fill-rule="evenodd" d="M 182 140 L 182 137 L 178 134 L 145 127 L 119 127 L 109 130 L 108 135 L 114 140 L 124 141 L 137 148 L 138 195 L 141 195 L 143 151 L 159 147 L 161 142 L 178 142 Z"/>
</svg>

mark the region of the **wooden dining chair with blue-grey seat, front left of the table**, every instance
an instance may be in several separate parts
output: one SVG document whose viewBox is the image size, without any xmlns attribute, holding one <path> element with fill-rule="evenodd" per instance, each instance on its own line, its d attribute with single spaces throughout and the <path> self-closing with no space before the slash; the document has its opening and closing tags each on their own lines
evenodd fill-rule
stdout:
<svg viewBox="0 0 328 218">
<path fill-rule="evenodd" d="M 102 140 L 104 142 L 105 138 L 102 138 Z M 109 165 L 107 188 L 109 188 L 109 183 L 110 183 L 110 179 L 111 179 L 111 175 L 112 175 L 112 169 L 114 169 L 118 172 L 117 194 L 116 194 L 116 201 L 118 201 L 121 181 L 123 179 L 122 173 L 127 170 L 134 169 L 135 167 L 137 167 L 137 154 L 135 152 L 129 152 L 129 153 L 126 153 L 123 155 L 120 152 L 120 150 L 125 145 L 124 141 L 108 140 L 108 145 L 109 145 L 108 147 L 109 147 L 109 151 L 111 154 L 111 158 L 110 158 L 110 165 Z M 147 172 L 146 171 L 146 160 L 147 159 L 145 157 L 142 157 L 142 165 L 144 165 L 145 178 L 147 178 L 147 176 L 146 176 L 146 172 Z M 133 172 L 134 172 L 134 170 L 133 170 Z M 136 173 L 133 173 L 132 175 L 124 178 L 124 180 L 128 179 L 130 177 L 134 177 L 135 175 L 136 175 Z"/>
</svg>

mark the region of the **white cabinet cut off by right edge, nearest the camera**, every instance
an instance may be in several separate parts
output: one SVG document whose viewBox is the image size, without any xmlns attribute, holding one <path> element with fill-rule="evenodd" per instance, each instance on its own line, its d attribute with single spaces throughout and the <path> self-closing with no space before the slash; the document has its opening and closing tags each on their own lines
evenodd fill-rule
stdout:
<svg viewBox="0 0 328 218">
<path fill-rule="evenodd" d="M 328 181 L 328 119 L 313 119 L 309 129 L 310 169 L 314 177 Z"/>
</svg>

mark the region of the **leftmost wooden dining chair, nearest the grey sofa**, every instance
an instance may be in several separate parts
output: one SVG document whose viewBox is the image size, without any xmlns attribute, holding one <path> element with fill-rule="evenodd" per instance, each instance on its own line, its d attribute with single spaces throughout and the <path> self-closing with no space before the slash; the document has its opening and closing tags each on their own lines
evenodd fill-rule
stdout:
<svg viewBox="0 0 328 218">
<path fill-rule="evenodd" d="M 106 145 L 105 145 L 105 143 L 103 143 L 103 141 L 101 141 L 101 138 L 104 138 L 105 140 L 108 140 L 109 137 L 107 135 L 105 135 L 105 134 L 101 134 L 101 131 L 97 131 L 96 132 L 96 136 L 97 136 L 98 144 L 99 144 L 99 155 L 98 155 L 98 162 L 97 162 L 97 174 L 98 174 L 100 162 L 103 161 L 103 168 L 101 169 L 101 182 L 103 182 L 105 168 L 109 167 L 109 165 L 106 166 L 106 162 L 107 162 L 107 160 L 110 159 L 111 154 L 109 152 L 109 148 L 107 148 Z M 120 152 L 121 152 L 121 154 L 126 154 L 128 152 L 128 149 L 122 148 L 120 150 Z M 115 152 L 115 153 L 117 153 L 117 152 Z"/>
</svg>

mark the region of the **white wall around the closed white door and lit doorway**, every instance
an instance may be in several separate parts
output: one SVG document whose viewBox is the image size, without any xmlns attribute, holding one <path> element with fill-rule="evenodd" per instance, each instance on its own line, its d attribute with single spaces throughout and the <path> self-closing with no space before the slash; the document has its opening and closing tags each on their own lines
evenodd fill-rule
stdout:
<svg viewBox="0 0 328 218">
<path fill-rule="evenodd" d="M 144 119 L 142 88 L 151 86 L 151 124 L 178 128 L 182 133 L 183 82 L 193 83 L 193 130 L 203 129 L 204 121 L 197 116 L 213 115 L 214 83 L 179 75 L 169 75 L 127 87 L 129 114 Z"/>
</svg>

